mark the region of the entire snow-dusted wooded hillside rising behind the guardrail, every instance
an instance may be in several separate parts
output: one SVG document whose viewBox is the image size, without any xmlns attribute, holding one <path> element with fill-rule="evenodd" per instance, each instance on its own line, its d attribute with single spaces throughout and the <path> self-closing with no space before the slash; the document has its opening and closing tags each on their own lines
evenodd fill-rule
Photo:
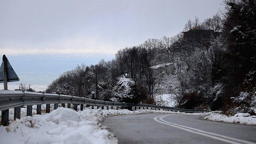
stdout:
<svg viewBox="0 0 256 144">
<path fill-rule="evenodd" d="M 224 0 L 225 10 L 188 20 L 182 32 L 120 49 L 115 59 L 77 65 L 48 85 L 47 93 L 97 100 L 256 112 L 256 1 Z M 167 70 L 171 68 L 171 71 Z"/>
</svg>

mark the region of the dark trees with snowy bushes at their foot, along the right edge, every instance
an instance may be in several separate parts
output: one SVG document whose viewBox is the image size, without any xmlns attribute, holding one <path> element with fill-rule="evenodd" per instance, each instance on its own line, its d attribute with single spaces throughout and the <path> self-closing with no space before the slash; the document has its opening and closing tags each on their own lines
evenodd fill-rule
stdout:
<svg viewBox="0 0 256 144">
<path fill-rule="evenodd" d="M 256 1 L 225 0 L 224 14 L 225 51 L 215 67 L 221 84 L 219 101 L 228 113 L 248 112 L 256 109 Z M 230 102 L 231 101 L 231 102 Z"/>
</svg>

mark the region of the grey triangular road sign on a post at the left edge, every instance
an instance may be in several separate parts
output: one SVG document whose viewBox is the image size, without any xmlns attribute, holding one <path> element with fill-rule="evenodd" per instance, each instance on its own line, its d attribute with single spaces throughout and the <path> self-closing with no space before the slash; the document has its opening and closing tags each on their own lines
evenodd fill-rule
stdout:
<svg viewBox="0 0 256 144">
<path fill-rule="evenodd" d="M 8 59 L 6 57 L 5 59 L 6 59 L 6 67 L 7 67 L 7 82 L 20 81 L 20 78 L 17 76 L 17 74 L 13 70 Z M 2 62 L 0 67 L 0 83 L 4 83 L 4 62 Z"/>
</svg>

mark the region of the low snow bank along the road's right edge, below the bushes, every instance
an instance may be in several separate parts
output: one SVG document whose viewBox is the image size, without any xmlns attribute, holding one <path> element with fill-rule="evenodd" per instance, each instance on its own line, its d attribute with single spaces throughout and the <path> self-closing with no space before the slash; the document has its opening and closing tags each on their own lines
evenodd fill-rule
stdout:
<svg viewBox="0 0 256 144">
<path fill-rule="evenodd" d="M 234 116 L 226 116 L 219 113 L 212 113 L 208 116 L 202 117 L 202 119 L 233 124 L 256 125 L 256 116 L 251 116 L 248 113 L 237 113 Z"/>
</svg>

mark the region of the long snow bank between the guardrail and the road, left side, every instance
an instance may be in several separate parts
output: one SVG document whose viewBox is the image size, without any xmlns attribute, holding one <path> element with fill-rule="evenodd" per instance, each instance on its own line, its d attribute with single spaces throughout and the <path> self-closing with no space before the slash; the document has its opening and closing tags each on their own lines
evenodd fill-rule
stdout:
<svg viewBox="0 0 256 144">
<path fill-rule="evenodd" d="M 16 121 L 10 121 L 9 126 L 1 125 L 0 139 L 3 143 L 15 144 L 116 144 L 118 142 L 114 135 L 101 127 L 100 122 L 103 118 L 144 113 L 186 114 L 151 109 L 130 111 L 84 108 L 83 111 L 76 112 L 73 109 L 59 107 L 49 114 L 25 116 Z M 190 115 L 208 115 L 208 113 Z"/>
</svg>

